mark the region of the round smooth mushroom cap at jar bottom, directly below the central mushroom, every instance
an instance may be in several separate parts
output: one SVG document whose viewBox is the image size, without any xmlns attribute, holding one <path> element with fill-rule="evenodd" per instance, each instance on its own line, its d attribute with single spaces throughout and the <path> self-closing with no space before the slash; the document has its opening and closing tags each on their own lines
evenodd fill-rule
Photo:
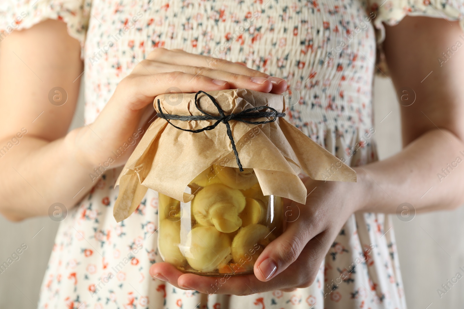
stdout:
<svg viewBox="0 0 464 309">
<path fill-rule="evenodd" d="M 188 264 L 197 271 L 209 272 L 231 259 L 231 240 L 215 227 L 195 227 L 187 235 L 187 246 L 181 246 Z"/>
</svg>

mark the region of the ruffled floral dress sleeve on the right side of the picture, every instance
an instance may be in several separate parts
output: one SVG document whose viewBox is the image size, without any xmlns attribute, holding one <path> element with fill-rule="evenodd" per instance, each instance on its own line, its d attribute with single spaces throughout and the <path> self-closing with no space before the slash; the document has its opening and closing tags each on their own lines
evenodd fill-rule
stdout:
<svg viewBox="0 0 464 309">
<path fill-rule="evenodd" d="M 374 26 L 378 44 L 377 68 L 379 72 L 388 75 L 388 68 L 381 43 L 385 39 L 385 27 L 396 25 L 406 15 L 429 16 L 459 21 L 464 29 L 464 1 L 463 0 L 370 0 L 369 11 L 375 14 Z"/>
</svg>

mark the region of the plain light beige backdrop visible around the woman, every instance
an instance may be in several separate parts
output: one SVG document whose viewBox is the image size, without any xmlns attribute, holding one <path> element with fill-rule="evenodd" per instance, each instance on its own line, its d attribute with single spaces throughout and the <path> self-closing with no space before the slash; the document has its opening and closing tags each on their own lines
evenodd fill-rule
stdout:
<svg viewBox="0 0 464 309">
<path fill-rule="evenodd" d="M 83 118 L 82 93 L 79 102 L 77 114 Z M 380 159 L 383 159 L 401 149 L 399 107 L 393 86 L 386 78 L 375 79 L 374 111 L 374 138 Z M 72 126 L 82 125 L 82 121 L 75 117 Z M 437 292 L 441 284 L 457 272 L 464 275 L 464 271 L 459 269 L 460 266 L 464 269 L 463 218 L 464 208 L 416 215 L 410 222 L 402 222 L 393 215 L 406 301 L 410 309 L 463 307 L 464 278 L 441 298 Z M 57 228 L 58 223 L 48 217 L 12 223 L 0 216 L 0 264 L 22 243 L 27 245 L 20 259 L 0 274 L 1 309 L 36 308 Z"/>
</svg>

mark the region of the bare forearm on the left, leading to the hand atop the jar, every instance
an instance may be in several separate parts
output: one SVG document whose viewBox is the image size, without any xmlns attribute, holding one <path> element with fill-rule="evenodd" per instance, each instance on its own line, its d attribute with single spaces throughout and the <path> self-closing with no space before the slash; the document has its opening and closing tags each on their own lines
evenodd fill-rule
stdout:
<svg viewBox="0 0 464 309">
<path fill-rule="evenodd" d="M 8 219 L 45 215 L 56 202 L 72 208 L 97 179 L 77 149 L 79 128 L 52 142 L 24 135 L 0 158 L 0 211 Z M 6 145 L 4 140 L 0 145 Z"/>
</svg>

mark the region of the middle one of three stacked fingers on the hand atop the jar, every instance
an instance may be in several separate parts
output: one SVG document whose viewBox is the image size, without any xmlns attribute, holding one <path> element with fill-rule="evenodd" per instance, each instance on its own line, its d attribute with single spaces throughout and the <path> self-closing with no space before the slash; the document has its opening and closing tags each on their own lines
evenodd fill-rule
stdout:
<svg viewBox="0 0 464 309">
<path fill-rule="evenodd" d="M 143 72 L 145 68 L 148 69 L 148 71 L 151 74 L 180 71 L 188 74 L 193 74 L 195 76 L 208 76 L 216 80 L 229 82 L 229 87 L 231 89 L 247 88 L 261 92 L 269 92 L 271 91 L 273 85 L 271 79 L 265 77 L 241 75 L 228 71 L 209 69 L 205 67 L 168 64 L 156 61 L 148 61 L 147 63 L 144 63 L 144 67 L 139 67 L 138 69 L 136 69 L 137 73 L 146 74 L 146 71 Z"/>
</svg>

